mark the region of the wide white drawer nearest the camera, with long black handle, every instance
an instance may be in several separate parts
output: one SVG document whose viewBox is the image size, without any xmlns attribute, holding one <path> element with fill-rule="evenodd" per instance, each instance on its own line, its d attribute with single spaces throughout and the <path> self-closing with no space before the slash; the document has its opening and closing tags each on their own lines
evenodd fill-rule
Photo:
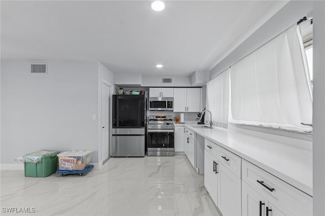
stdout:
<svg viewBox="0 0 325 216">
<path fill-rule="evenodd" d="M 265 170 L 242 161 L 242 179 L 254 190 L 274 197 L 299 215 L 312 215 L 312 197 Z"/>
</svg>

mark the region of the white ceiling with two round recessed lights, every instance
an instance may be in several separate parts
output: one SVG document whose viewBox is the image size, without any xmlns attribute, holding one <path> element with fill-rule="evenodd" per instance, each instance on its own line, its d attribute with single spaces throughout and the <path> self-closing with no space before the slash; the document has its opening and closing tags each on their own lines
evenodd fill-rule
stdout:
<svg viewBox="0 0 325 216">
<path fill-rule="evenodd" d="M 208 71 L 287 1 L 1 1 L 1 60 L 95 60 L 113 73 Z M 161 63 L 163 68 L 155 68 Z"/>
</svg>

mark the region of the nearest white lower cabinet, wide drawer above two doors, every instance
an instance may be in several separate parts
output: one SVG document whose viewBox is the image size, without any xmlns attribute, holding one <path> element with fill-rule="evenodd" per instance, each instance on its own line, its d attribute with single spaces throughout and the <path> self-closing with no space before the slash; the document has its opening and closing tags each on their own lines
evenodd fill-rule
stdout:
<svg viewBox="0 0 325 216">
<path fill-rule="evenodd" d="M 242 160 L 242 215 L 313 215 L 312 197 Z"/>
</svg>

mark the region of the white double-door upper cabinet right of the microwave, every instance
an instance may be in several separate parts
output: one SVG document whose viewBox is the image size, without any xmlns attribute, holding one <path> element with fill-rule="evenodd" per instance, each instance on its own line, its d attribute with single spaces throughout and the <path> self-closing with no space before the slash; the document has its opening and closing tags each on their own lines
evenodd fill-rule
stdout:
<svg viewBox="0 0 325 216">
<path fill-rule="evenodd" d="M 174 88 L 174 112 L 201 112 L 201 88 Z"/>
</svg>

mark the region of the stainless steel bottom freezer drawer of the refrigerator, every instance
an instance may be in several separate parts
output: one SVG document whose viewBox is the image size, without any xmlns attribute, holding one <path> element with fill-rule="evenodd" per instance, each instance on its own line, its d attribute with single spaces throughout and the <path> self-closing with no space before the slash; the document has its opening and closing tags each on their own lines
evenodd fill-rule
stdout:
<svg viewBox="0 0 325 216">
<path fill-rule="evenodd" d="M 113 157 L 144 157 L 145 135 L 113 135 Z"/>
</svg>

